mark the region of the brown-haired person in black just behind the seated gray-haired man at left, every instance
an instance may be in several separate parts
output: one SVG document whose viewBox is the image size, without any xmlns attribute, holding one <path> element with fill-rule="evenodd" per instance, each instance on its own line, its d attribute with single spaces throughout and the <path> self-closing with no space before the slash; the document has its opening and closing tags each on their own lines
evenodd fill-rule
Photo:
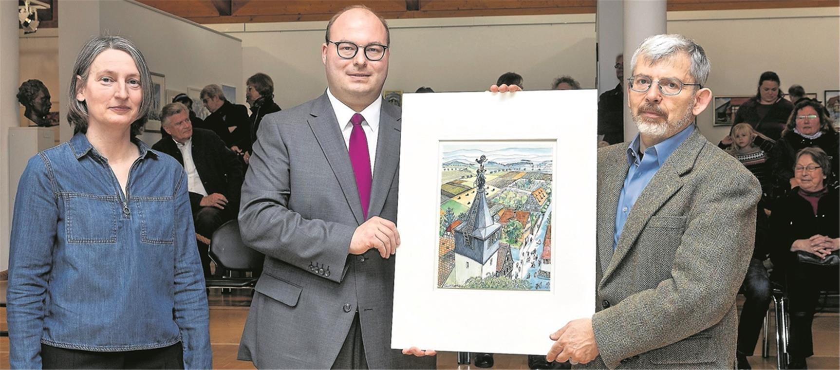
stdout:
<svg viewBox="0 0 840 370">
<path fill-rule="evenodd" d="M 201 98 L 204 107 L 210 111 L 210 115 L 204 118 L 204 127 L 213 130 L 228 148 L 241 154 L 239 145 L 251 139 L 248 108 L 228 102 L 218 85 L 204 86 Z"/>
</svg>

